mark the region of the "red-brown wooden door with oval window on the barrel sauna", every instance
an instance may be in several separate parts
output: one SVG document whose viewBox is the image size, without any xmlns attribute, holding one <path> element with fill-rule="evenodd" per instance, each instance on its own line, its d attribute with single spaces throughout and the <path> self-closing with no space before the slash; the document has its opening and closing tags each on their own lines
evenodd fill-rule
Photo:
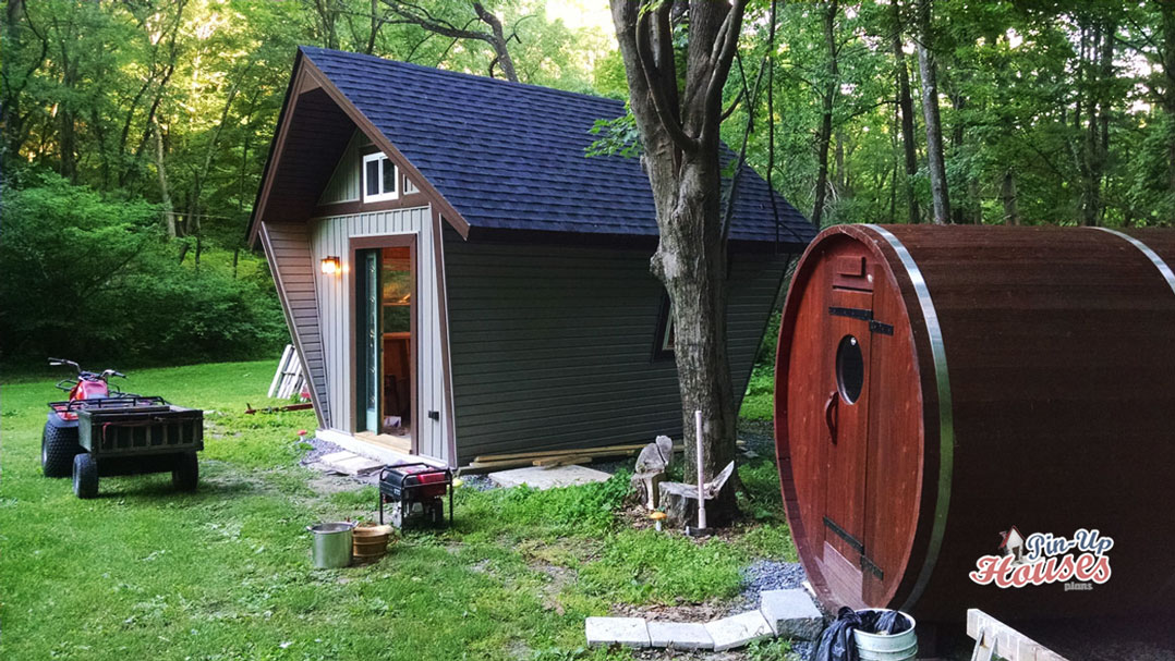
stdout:
<svg viewBox="0 0 1175 661">
<path fill-rule="evenodd" d="M 859 594 L 865 554 L 865 466 L 870 426 L 872 267 L 864 255 L 834 257 L 826 271 L 824 398 L 827 443 L 825 565 Z M 830 557 L 831 553 L 835 555 Z M 837 557 L 839 555 L 839 558 Z"/>
</svg>

